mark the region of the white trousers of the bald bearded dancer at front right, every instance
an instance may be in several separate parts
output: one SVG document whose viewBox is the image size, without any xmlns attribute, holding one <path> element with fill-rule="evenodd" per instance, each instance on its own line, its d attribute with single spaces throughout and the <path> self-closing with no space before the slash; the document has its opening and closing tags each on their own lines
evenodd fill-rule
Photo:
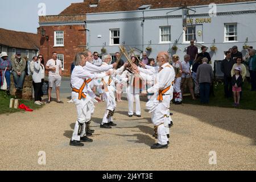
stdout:
<svg viewBox="0 0 256 182">
<path fill-rule="evenodd" d="M 152 111 L 152 122 L 154 123 L 155 126 L 158 126 L 159 144 L 167 144 L 168 141 L 165 128 L 165 124 L 168 122 L 165 115 L 170 114 L 170 112 L 167 113 L 167 109 L 170 108 L 170 101 L 170 96 L 163 96 L 163 101 L 159 102 L 158 105 L 156 105 L 154 111 Z"/>
</svg>

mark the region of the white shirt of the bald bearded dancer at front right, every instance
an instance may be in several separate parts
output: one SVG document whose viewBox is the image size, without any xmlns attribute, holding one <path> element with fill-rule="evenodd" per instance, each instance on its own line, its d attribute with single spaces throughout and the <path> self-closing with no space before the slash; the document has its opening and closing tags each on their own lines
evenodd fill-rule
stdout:
<svg viewBox="0 0 256 182">
<path fill-rule="evenodd" d="M 170 67 L 168 67 L 169 65 L 170 65 L 169 63 L 163 64 L 161 67 L 163 68 L 162 71 L 154 75 L 147 75 L 143 72 L 139 73 L 139 75 L 143 78 L 143 80 L 151 81 L 151 80 L 154 80 L 155 78 L 154 86 L 152 86 L 147 90 L 148 93 L 156 93 L 159 90 L 163 90 L 168 86 L 172 85 L 172 82 L 175 79 L 175 72 L 174 72 L 174 68 L 171 65 Z M 171 93 L 171 89 L 169 89 L 165 94 L 170 94 L 170 93 Z"/>
</svg>

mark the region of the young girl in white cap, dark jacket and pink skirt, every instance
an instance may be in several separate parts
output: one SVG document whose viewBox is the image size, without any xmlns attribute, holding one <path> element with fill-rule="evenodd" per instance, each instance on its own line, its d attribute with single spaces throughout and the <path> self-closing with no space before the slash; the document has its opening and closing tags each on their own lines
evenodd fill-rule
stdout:
<svg viewBox="0 0 256 182">
<path fill-rule="evenodd" d="M 232 77 L 232 85 L 233 85 L 233 93 L 234 93 L 234 104 L 233 106 L 239 106 L 239 102 L 240 102 L 240 92 L 242 91 L 242 82 L 243 82 L 243 78 L 241 75 L 241 68 L 240 67 L 236 67 L 235 68 L 235 72 L 236 75 L 233 75 Z"/>
</svg>

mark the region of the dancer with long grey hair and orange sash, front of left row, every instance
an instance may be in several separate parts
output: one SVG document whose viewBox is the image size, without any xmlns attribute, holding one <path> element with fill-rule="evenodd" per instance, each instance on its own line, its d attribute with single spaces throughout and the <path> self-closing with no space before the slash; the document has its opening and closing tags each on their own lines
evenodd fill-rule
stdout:
<svg viewBox="0 0 256 182">
<path fill-rule="evenodd" d="M 72 100 L 77 109 L 77 121 L 75 129 L 70 140 L 71 146 L 84 146 L 81 142 L 92 142 L 92 139 L 86 137 L 85 122 L 88 119 L 88 115 L 91 114 L 91 100 L 100 101 L 100 98 L 88 89 L 86 80 L 89 78 L 105 77 L 110 75 L 110 71 L 101 74 L 93 74 L 86 71 L 83 67 L 86 61 L 92 60 L 92 53 L 90 51 L 84 53 L 77 53 L 75 57 L 75 68 L 71 75 L 72 85 Z M 87 117 L 86 117 L 87 116 Z"/>
</svg>

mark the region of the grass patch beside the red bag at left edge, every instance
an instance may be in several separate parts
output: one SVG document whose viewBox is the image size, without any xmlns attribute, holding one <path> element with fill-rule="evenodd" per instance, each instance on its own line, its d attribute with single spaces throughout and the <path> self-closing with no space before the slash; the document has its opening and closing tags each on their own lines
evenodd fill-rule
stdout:
<svg viewBox="0 0 256 182">
<path fill-rule="evenodd" d="M 10 114 L 18 111 L 24 111 L 21 109 L 9 108 L 10 98 L 14 98 L 14 96 L 7 96 L 4 91 L 0 91 L 0 114 Z M 20 100 L 20 103 L 29 106 L 33 110 L 42 108 L 42 106 L 35 105 L 34 101 Z"/>
</svg>

